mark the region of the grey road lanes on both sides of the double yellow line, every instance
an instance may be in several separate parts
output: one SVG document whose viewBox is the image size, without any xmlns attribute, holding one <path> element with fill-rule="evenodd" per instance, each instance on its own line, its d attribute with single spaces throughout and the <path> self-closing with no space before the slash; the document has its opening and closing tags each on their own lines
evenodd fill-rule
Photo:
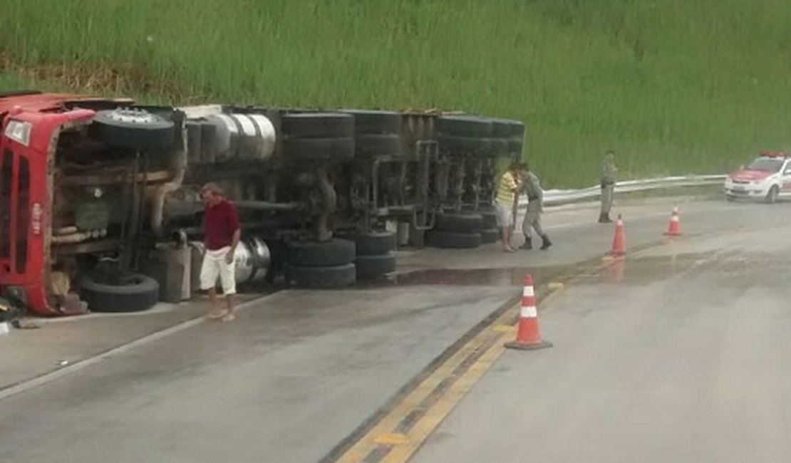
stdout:
<svg viewBox="0 0 791 463">
<path fill-rule="evenodd" d="M 630 244 L 657 243 L 667 205 L 634 209 Z M 555 348 L 507 352 L 417 460 L 789 461 L 791 205 L 683 214 L 688 236 L 539 309 Z M 202 323 L 6 397 L 0 461 L 318 461 L 516 294 L 525 269 L 602 254 L 611 231 L 589 215 L 547 217 L 558 244 L 527 262 L 407 253 L 398 284 L 280 292 L 236 324 Z M 437 273 L 437 259 L 456 273 Z"/>
</svg>

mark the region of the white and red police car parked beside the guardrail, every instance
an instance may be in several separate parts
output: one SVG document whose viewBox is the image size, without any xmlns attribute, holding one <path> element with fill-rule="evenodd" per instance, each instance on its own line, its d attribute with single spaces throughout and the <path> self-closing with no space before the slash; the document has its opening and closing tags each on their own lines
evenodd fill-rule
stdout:
<svg viewBox="0 0 791 463">
<path fill-rule="evenodd" d="M 761 152 L 750 165 L 725 179 L 725 198 L 769 203 L 791 197 L 791 152 Z"/>
</svg>

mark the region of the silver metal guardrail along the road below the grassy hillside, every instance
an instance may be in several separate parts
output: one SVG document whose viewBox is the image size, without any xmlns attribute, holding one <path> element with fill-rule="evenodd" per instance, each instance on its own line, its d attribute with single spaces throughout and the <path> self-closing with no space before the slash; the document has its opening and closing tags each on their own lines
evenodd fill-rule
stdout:
<svg viewBox="0 0 791 463">
<path fill-rule="evenodd" d="M 626 180 L 615 184 L 616 193 L 634 193 L 636 191 L 660 190 L 663 188 L 680 188 L 683 186 L 706 186 L 725 182 L 727 175 L 687 175 L 679 177 L 663 177 L 660 179 Z M 577 201 L 592 200 L 600 197 L 601 186 L 590 186 L 581 190 L 546 190 L 544 205 L 566 205 Z M 519 198 L 519 209 L 528 205 L 528 198 Z"/>
</svg>

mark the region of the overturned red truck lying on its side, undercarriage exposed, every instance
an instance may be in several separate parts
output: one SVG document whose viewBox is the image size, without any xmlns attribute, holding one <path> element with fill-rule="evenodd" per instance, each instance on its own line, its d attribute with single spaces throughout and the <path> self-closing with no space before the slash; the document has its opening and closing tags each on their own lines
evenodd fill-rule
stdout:
<svg viewBox="0 0 791 463">
<path fill-rule="evenodd" d="M 207 182 L 240 213 L 240 284 L 342 286 L 393 273 L 399 246 L 494 242 L 498 163 L 524 143 L 472 115 L 40 92 L 0 93 L 0 121 L 0 288 L 50 316 L 188 299 Z"/>
</svg>

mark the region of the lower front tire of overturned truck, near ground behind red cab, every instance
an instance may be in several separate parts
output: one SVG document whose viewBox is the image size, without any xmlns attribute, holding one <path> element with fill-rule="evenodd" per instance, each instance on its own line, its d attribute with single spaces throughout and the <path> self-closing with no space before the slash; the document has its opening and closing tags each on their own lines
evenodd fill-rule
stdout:
<svg viewBox="0 0 791 463">
<path fill-rule="evenodd" d="M 124 284 L 104 284 L 93 277 L 80 283 L 82 299 L 93 312 L 139 312 L 153 307 L 159 300 L 159 283 L 138 273 L 123 277 Z"/>
</svg>

